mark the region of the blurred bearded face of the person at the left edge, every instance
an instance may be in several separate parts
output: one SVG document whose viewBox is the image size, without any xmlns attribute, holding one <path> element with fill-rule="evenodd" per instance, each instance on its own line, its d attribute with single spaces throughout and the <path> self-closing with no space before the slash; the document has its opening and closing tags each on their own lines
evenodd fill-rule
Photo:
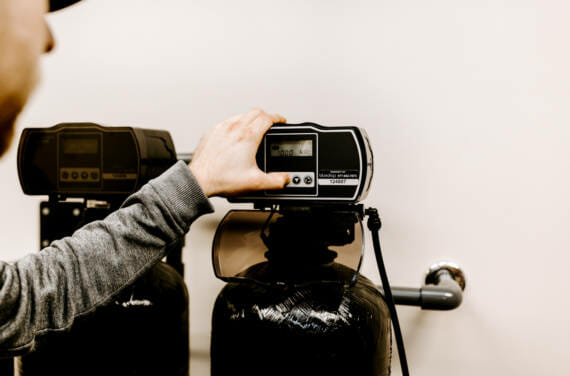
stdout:
<svg viewBox="0 0 570 376">
<path fill-rule="evenodd" d="M 54 47 L 48 9 L 48 0 L 0 0 L 0 156 L 39 78 L 39 58 Z"/>
</svg>

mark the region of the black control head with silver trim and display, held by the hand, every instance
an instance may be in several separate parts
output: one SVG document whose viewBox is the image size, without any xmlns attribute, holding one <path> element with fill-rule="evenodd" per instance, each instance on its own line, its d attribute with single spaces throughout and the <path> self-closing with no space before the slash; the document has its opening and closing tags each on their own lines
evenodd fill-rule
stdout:
<svg viewBox="0 0 570 376">
<path fill-rule="evenodd" d="M 354 204 L 368 195 L 374 172 L 370 141 L 358 127 L 275 124 L 265 134 L 256 159 L 262 171 L 287 172 L 291 182 L 280 191 L 254 192 L 230 202 Z"/>
</svg>

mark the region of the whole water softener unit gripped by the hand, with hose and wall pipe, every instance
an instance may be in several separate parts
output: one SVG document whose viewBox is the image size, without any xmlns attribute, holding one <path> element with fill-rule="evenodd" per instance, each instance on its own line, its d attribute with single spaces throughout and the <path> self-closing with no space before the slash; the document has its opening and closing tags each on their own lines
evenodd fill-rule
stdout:
<svg viewBox="0 0 570 376">
<path fill-rule="evenodd" d="M 391 326 L 408 375 L 395 305 L 459 305 L 465 278 L 449 263 L 430 271 L 429 286 L 392 291 L 378 210 L 361 203 L 372 150 L 357 127 L 277 124 L 267 132 L 258 167 L 287 172 L 291 182 L 230 199 L 255 210 L 232 210 L 218 227 L 214 273 L 228 284 L 212 318 L 213 376 L 389 375 Z M 366 217 L 382 287 L 360 274 Z"/>
</svg>

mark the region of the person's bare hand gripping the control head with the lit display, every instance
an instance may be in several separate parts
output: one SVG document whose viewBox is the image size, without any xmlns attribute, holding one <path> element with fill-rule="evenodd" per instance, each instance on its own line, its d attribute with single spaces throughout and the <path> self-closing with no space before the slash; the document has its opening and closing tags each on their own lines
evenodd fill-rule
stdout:
<svg viewBox="0 0 570 376">
<path fill-rule="evenodd" d="M 274 123 L 285 122 L 283 116 L 254 109 L 233 116 L 206 133 L 190 162 L 190 170 L 206 196 L 235 196 L 285 187 L 289 174 L 265 174 L 255 160 L 265 133 Z"/>
</svg>

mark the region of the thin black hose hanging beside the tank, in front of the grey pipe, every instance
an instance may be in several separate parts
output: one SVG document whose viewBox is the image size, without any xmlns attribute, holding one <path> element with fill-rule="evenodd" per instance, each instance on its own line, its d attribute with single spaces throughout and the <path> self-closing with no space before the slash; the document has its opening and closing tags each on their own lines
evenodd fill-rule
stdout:
<svg viewBox="0 0 570 376">
<path fill-rule="evenodd" d="M 400 329 L 400 321 L 398 320 L 398 313 L 396 312 L 396 304 L 394 303 L 394 297 L 392 296 L 392 289 L 390 288 L 390 282 L 388 282 L 388 274 L 386 273 L 386 268 L 384 266 L 384 259 L 382 258 L 382 248 L 380 247 L 380 228 L 382 227 L 382 222 L 380 221 L 380 216 L 378 215 L 378 210 L 370 208 L 366 210 L 368 215 L 368 229 L 372 234 L 372 243 L 374 245 L 374 254 L 376 255 L 376 262 L 378 263 L 378 271 L 380 272 L 380 278 L 382 279 L 382 287 L 384 289 L 384 297 L 386 298 L 386 303 L 388 304 L 388 309 L 390 310 L 390 316 L 392 316 L 392 325 L 394 327 L 394 336 L 396 337 L 396 346 L 398 348 L 398 355 L 400 356 L 400 366 L 402 368 L 402 375 L 409 376 L 410 372 L 408 370 L 408 360 L 406 358 L 406 350 L 404 349 L 404 338 L 402 337 L 402 330 Z"/>
</svg>

